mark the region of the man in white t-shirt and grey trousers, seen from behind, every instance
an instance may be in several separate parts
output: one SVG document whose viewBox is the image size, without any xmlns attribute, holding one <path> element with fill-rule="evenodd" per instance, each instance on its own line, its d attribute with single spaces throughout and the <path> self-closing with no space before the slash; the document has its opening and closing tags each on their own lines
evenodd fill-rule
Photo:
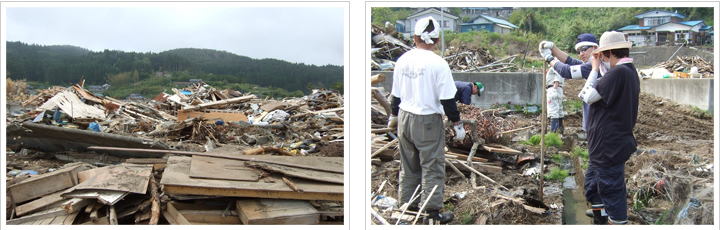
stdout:
<svg viewBox="0 0 720 230">
<path fill-rule="evenodd" d="M 442 115 L 453 122 L 455 140 L 465 138 L 465 128 L 455 104 L 455 82 L 448 63 L 432 50 L 440 26 L 432 17 L 417 21 L 417 48 L 403 54 L 395 65 L 392 85 L 392 114 L 388 127 L 398 127 L 400 145 L 400 202 L 410 202 L 415 188 L 422 184 L 421 199 L 408 210 L 417 210 L 420 200 L 428 219 L 446 224 L 452 212 L 440 213 L 445 194 L 445 131 Z M 399 125 L 398 125 L 399 124 Z M 430 193 L 437 186 L 435 192 Z"/>
</svg>

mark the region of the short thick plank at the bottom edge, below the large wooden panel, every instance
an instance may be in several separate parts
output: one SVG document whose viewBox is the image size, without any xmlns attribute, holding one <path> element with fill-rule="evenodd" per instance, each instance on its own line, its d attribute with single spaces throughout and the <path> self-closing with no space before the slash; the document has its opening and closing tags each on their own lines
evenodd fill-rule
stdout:
<svg viewBox="0 0 720 230">
<path fill-rule="evenodd" d="M 281 199 L 238 200 L 235 207 L 246 225 L 318 224 L 320 213 L 308 201 Z"/>
</svg>

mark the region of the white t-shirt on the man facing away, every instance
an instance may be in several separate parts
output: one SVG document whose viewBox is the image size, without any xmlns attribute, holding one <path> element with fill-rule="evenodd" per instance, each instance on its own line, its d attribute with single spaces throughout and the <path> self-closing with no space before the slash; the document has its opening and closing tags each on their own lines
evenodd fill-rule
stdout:
<svg viewBox="0 0 720 230">
<path fill-rule="evenodd" d="M 400 98 L 400 108 L 417 115 L 444 115 L 440 100 L 455 97 L 450 67 L 429 50 L 413 49 L 395 64 L 392 95 Z"/>
</svg>

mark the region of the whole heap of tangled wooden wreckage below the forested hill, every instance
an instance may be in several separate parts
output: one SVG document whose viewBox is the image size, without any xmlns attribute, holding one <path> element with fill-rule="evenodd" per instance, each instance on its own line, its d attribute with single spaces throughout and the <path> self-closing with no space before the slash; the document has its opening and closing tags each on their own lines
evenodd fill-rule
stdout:
<svg viewBox="0 0 720 230">
<path fill-rule="evenodd" d="M 38 91 L 6 122 L 9 225 L 343 224 L 336 91 L 273 100 L 200 82 L 146 102 L 82 84 Z M 29 155 L 73 163 L 25 170 Z"/>
</svg>

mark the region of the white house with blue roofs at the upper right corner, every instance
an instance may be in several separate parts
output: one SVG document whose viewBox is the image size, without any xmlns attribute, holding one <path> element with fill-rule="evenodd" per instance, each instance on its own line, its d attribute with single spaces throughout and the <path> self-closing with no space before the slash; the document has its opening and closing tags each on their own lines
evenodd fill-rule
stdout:
<svg viewBox="0 0 720 230">
<path fill-rule="evenodd" d="M 659 46 L 685 41 L 692 45 L 711 43 L 712 26 L 703 21 L 684 21 L 687 16 L 677 12 L 652 10 L 635 15 L 638 25 L 618 29 L 635 46 Z"/>
</svg>

